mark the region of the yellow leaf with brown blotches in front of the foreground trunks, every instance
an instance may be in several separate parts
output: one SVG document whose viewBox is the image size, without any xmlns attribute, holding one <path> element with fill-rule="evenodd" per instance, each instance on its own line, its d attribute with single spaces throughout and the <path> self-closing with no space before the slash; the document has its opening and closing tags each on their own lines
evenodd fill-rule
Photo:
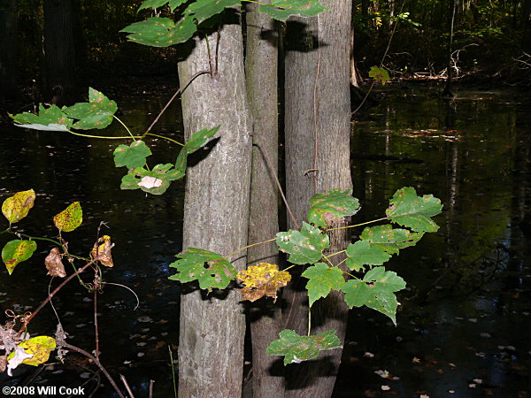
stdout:
<svg viewBox="0 0 531 398">
<path fill-rule="evenodd" d="M 240 289 L 242 299 L 250 302 L 256 302 L 265 295 L 276 301 L 277 291 L 291 280 L 289 272 L 279 271 L 278 265 L 267 263 L 251 265 L 247 270 L 238 272 L 237 277 L 245 286 Z"/>
</svg>

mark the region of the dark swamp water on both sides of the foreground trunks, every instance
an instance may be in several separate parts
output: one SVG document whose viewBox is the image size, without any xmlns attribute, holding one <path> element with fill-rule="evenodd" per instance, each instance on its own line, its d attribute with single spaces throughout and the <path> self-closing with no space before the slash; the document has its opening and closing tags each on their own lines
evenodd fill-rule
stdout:
<svg viewBox="0 0 531 398">
<path fill-rule="evenodd" d="M 396 327 L 375 311 L 351 311 L 335 396 L 529 396 L 531 223 L 524 218 L 531 211 L 531 96 L 460 90 L 448 102 L 430 88 L 392 87 L 383 98 L 352 124 L 354 195 L 363 205 L 356 221 L 381 218 L 396 189 L 412 186 L 442 199 L 441 229 L 388 266 L 408 282 Z M 127 110 L 121 119 L 142 131 L 163 105 L 153 98 L 119 103 Z M 158 132 L 181 138 L 178 120 L 170 111 Z M 175 355 L 179 287 L 167 279 L 173 273 L 167 264 L 181 250 L 182 184 L 162 196 L 120 191 L 122 171 L 112 161 L 117 142 L 0 128 L 0 200 L 37 192 L 34 209 L 19 223 L 24 233 L 53 237 L 53 215 L 79 200 L 84 222 L 65 238 L 74 254 L 86 256 L 100 221 L 108 223 L 103 233 L 116 242 L 115 266 L 104 270 L 105 278 L 133 288 L 140 306 L 134 310 L 135 297 L 120 287 L 98 295 L 102 363 L 124 374 L 137 397 L 147 396 L 150 379 L 155 396 L 173 396 L 168 344 Z M 104 131 L 123 134 L 116 123 Z M 156 163 L 173 161 L 177 150 L 160 140 L 150 148 Z M 34 258 L 12 276 L 0 272 L 2 312 L 35 309 L 46 297 L 42 262 L 49 249 L 39 242 Z M 94 349 L 92 295 L 72 282 L 53 302 L 72 344 Z M 56 324 L 47 307 L 30 333 L 54 333 Z M 90 391 L 97 382 L 77 354 L 39 369 L 20 366 L 2 383 L 87 383 Z M 94 396 L 112 392 L 104 387 Z"/>
</svg>

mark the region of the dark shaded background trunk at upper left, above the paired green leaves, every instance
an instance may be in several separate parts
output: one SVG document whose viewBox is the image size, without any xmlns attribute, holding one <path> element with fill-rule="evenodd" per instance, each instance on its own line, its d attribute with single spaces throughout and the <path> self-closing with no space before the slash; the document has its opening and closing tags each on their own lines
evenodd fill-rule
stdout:
<svg viewBox="0 0 531 398">
<path fill-rule="evenodd" d="M 73 0 L 44 0 L 44 73 L 46 101 L 72 103 L 76 88 L 75 7 Z"/>
</svg>

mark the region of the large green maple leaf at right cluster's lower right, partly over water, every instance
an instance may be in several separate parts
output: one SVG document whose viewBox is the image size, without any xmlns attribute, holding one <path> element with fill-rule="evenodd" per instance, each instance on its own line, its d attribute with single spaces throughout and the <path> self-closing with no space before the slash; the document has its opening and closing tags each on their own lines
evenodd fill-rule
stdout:
<svg viewBox="0 0 531 398">
<path fill-rule="evenodd" d="M 398 302 L 394 292 L 405 287 L 404 279 L 396 272 L 385 271 L 385 267 L 376 267 L 367 272 L 364 279 L 350 279 L 342 286 L 344 301 L 349 308 L 366 305 L 392 319 L 396 325 Z"/>
</svg>

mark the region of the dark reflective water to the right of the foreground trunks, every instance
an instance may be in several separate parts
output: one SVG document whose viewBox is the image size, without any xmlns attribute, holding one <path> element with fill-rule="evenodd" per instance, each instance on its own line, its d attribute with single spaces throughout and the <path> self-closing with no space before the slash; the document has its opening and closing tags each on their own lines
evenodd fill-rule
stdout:
<svg viewBox="0 0 531 398">
<path fill-rule="evenodd" d="M 414 88 L 388 94 L 354 123 L 353 151 L 387 157 L 353 159 L 365 220 L 381 217 L 402 186 L 433 193 L 445 207 L 440 231 L 390 264 L 408 281 L 398 326 L 351 312 L 336 396 L 527 394 L 531 270 L 519 222 L 529 207 L 530 103 L 501 90 L 461 91 L 445 102 Z M 352 372 L 360 380 L 354 395 Z"/>
</svg>

